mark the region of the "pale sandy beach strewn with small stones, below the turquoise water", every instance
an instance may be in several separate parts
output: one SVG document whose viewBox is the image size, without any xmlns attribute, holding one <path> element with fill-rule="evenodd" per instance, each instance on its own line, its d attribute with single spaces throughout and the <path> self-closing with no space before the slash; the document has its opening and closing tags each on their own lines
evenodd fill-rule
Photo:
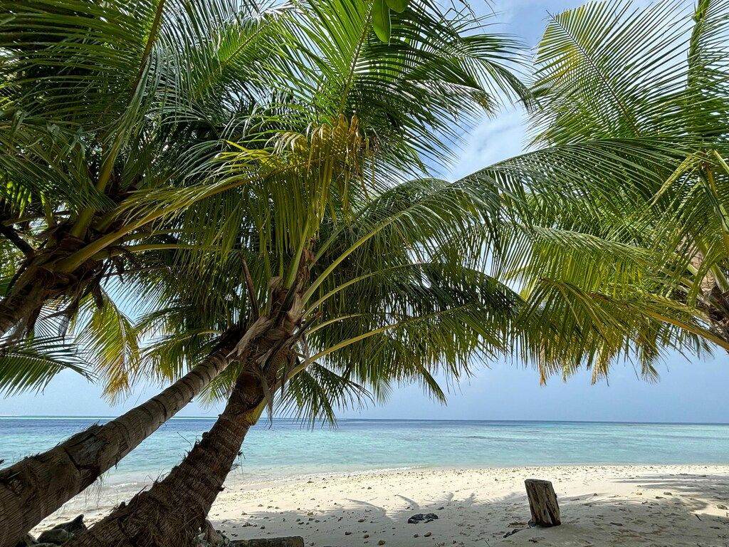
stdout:
<svg viewBox="0 0 729 547">
<path fill-rule="evenodd" d="M 523 480 L 553 481 L 560 527 L 529 528 Z M 94 498 L 95 496 L 95 498 Z M 75 500 L 44 527 L 125 494 Z M 302 535 L 310 546 L 729 546 L 729 466 L 585 465 L 399 470 L 251 485 L 233 478 L 211 521 L 230 538 Z M 437 513 L 408 524 L 413 513 Z M 509 532 L 518 530 L 512 535 Z"/>
</svg>

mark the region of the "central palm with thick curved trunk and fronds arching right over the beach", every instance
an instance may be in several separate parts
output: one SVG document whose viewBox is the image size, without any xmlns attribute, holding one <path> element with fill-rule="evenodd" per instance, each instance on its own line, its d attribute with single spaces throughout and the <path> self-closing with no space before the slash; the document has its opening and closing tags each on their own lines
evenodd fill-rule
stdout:
<svg viewBox="0 0 729 547">
<path fill-rule="evenodd" d="M 317 13 L 327 6 L 313 5 Z M 329 9 L 324 13 L 331 17 Z M 250 249 L 243 253 L 243 270 L 252 265 L 245 276 L 252 310 L 246 318 L 249 335 L 237 349 L 243 366 L 228 369 L 214 382 L 214 393 L 226 395 L 227 406 L 183 462 L 72 545 L 189 540 L 222 488 L 249 428 L 266 406 L 273 407 L 287 383 L 283 396 L 305 405 L 305 416 L 316 416 L 330 414 L 327 395 L 339 397 L 351 381 L 378 394 L 393 377 L 420 379 L 440 395 L 432 376 L 436 365 L 444 362 L 457 377 L 468 370 L 474 352 L 510 353 L 512 344 L 545 370 L 555 363 L 574 370 L 593 361 L 599 368 L 601 360 L 615 358 L 631 344 L 647 363 L 660 349 L 703 348 L 701 337 L 710 333 L 686 306 L 659 310 L 652 303 L 653 315 L 634 320 L 629 316 L 639 306 L 637 299 L 632 310 L 612 306 L 613 316 L 605 306 L 600 314 L 593 312 L 585 329 L 582 317 L 574 320 L 570 295 L 558 300 L 545 296 L 531 305 L 483 274 L 491 259 L 502 258 L 486 249 L 503 251 L 512 243 L 504 238 L 510 235 L 507 221 L 515 219 L 505 216 L 521 214 L 523 220 L 527 207 L 534 206 L 523 186 L 532 171 L 522 171 L 519 179 L 510 171 L 532 157 L 455 184 L 420 179 L 349 195 L 348 187 L 358 188 L 356 182 L 372 176 L 361 167 L 368 158 L 360 157 L 362 135 L 368 132 L 367 125 L 360 125 L 363 117 L 340 115 L 307 133 L 283 133 L 274 141 L 273 157 L 239 150 L 224 158 L 225 174 L 249 176 L 261 167 L 270 173 L 263 185 L 246 188 L 243 200 L 251 218 L 236 240 Z M 654 160 L 667 155 L 656 150 Z M 622 161 L 620 171 L 628 158 Z M 284 169 L 299 163 L 299 173 Z M 281 172 L 284 176 L 278 176 Z M 311 209 L 297 214 L 292 202 Z M 199 216 L 194 208 L 190 214 Z M 204 217 L 209 221 L 210 212 Z M 235 279 L 228 269 L 219 276 L 211 271 L 194 276 L 210 279 L 203 290 Z M 173 294 L 184 290 L 178 287 Z M 184 308 L 176 306 L 174 313 Z M 197 325 L 194 332 L 205 328 Z M 179 336 L 190 340 L 187 333 Z M 157 358 L 174 355 L 179 362 L 176 335 L 168 342 L 158 348 Z"/>
</svg>

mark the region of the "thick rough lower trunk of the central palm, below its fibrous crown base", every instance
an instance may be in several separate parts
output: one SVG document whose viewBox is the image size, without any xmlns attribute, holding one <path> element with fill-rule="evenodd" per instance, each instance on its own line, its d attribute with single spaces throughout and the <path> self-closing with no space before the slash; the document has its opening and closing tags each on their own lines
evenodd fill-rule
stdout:
<svg viewBox="0 0 729 547">
<path fill-rule="evenodd" d="M 163 481 L 122 503 L 66 547 L 191 546 L 258 419 L 262 400 L 259 379 L 241 374 L 225 411 Z"/>
</svg>

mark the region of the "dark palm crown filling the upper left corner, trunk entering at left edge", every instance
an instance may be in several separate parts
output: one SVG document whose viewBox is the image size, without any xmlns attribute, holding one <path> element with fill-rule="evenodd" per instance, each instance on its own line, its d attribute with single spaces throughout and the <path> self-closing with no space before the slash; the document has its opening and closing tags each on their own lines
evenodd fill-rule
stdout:
<svg viewBox="0 0 729 547">
<path fill-rule="evenodd" d="M 238 0 L 0 2 L 0 336 L 73 317 L 133 257 L 174 247 L 149 193 L 199 182 L 289 61 L 289 7 Z M 214 194 L 219 189 L 211 189 Z M 206 195 L 188 195 L 184 207 Z M 133 260 L 132 260 L 133 262 Z"/>
</svg>

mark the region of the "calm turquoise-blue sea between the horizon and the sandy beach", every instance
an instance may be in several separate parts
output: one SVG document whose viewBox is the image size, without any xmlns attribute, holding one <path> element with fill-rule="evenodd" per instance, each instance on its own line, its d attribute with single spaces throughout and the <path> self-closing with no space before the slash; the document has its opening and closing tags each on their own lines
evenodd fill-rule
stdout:
<svg viewBox="0 0 729 547">
<path fill-rule="evenodd" d="M 108 420 L 0 417 L 0 467 Z M 106 484 L 166 473 L 213 420 L 169 420 L 109 472 Z M 728 464 L 729 425 L 343 419 L 335 429 L 311 430 L 263 420 L 249 432 L 238 463 L 235 476 L 253 482 L 402 468 Z"/>
</svg>

